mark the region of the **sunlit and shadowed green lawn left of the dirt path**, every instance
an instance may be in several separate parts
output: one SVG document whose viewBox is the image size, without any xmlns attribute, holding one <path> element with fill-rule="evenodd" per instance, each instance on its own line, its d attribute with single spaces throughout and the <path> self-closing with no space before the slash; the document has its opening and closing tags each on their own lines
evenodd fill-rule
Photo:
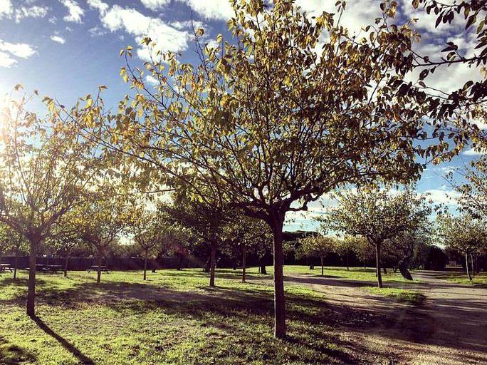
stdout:
<svg viewBox="0 0 487 365">
<path fill-rule="evenodd" d="M 24 314 L 26 273 L 16 282 L 0 274 L 0 364 L 355 362 L 323 294 L 286 286 L 288 339 L 278 340 L 271 275 L 250 269 L 249 282 L 239 280 L 226 269 L 217 271 L 213 289 L 200 269 L 149 273 L 147 282 L 141 272 L 110 272 L 101 284 L 95 273 L 39 274 L 38 317 L 31 319 Z"/>
</svg>

